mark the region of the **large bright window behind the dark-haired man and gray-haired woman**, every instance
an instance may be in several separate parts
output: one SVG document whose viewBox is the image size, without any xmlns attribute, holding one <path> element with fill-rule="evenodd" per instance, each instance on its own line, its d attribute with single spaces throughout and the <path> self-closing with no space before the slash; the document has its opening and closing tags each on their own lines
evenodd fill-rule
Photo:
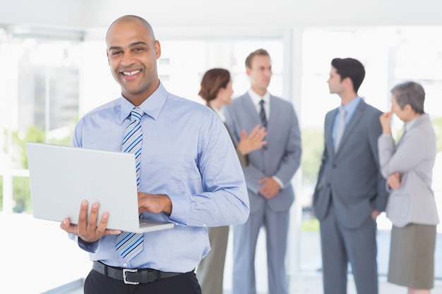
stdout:
<svg viewBox="0 0 442 294">
<path fill-rule="evenodd" d="M 303 188 L 299 201 L 303 207 L 301 223 L 301 271 L 321 271 L 321 247 L 318 221 L 311 214 L 311 196 L 323 152 L 323 123 L 327 111 L 339 106 L 340 98 L 330 94 L 327 80 L 330 61 L 335 57 L 353 57 L 362 61 L 366 78 L 359 89 L 365 101 L 381 111 L 390 109 L 391 88 L 405 80 L 420 82 L 426 90 L 425 110 L 431 116 L 438 135 L 438 157 L 434 169 L 434 192 L 439 214 L 442 215 L 442 193 L 438 178 L 442 176 L 441 151 L 442 109 L 442 41 L 431 36 L 441 34 L 440 27 L 364 27 L 309 28 L 303 34 L 303 67 L 301 123 L 303 154 Z M 376 44 L 376 46 L 373 46 Z M 395 135 L 402 132 L 403 123 L 393 120 Z M 391 223 L 385 214 L 378 217 L 378 273 L 388 271 Z M 438 226 L 441 238 L 442 226 Z M 436 259 L 441 260 L 442 247 L 436 247 Z M 436 278 L 442 278 L 442 268 L 436 262 Z"/>
</svg>

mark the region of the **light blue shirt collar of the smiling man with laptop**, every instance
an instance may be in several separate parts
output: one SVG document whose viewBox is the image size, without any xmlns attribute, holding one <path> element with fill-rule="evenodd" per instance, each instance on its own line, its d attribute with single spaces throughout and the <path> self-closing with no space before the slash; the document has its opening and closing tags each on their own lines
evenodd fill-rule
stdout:
<svg viewBox="0 0 442 294">
<path fill-rule="evenodd" d="M 160 85 L 157 87 L 157 90 L 153 92 L 148 99 L 145 99 L 145 101 L 139 106 L 145 114 L 152 117 L 153 119 L 157 119 L 157 117 L 160 115 L 162 107 L 166 103 L 167 98 L 167 91 L 165 87 L 162 85 L 162 82 L 160 82 Z M 123 97 L 121 95 L 120 97 L 121 102 L 121 115 L 120 120 L 121 123 L 130 116 L 132 109 L 135 107 L 131 102 L 129 102 L 128 99 Z"/>
</svg>

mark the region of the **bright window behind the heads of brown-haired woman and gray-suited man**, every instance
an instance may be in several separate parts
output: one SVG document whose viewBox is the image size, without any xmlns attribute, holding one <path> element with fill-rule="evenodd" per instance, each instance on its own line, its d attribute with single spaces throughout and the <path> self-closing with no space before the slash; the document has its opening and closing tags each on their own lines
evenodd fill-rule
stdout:
<svg viewBox="0 0 442 294">
<path fill-rule="evenodd" d="M 253 50 L 265 48 L 273 61 L 273 78 L 269 91 L 282 94 L 282 42 L 273 41 L 161 41 L 162 57 L 158 73 L 169 92 L 203 103 L 198 96 L 201 78 L 210 68 L 230 71 L 234 97 L 249 89 L 244 61 Z M 165 59 L 165 61 L 163 61 Z"/>
</svg>

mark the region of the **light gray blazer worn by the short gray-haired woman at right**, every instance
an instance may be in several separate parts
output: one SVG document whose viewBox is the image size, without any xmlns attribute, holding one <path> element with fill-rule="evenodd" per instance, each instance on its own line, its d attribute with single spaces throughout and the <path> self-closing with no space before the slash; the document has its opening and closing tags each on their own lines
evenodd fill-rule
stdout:
<svg viewBox="0 0 442 294">
<path fill-rule="evenodd" d="M 439 223 L 434 193 L 431 190 L 436 159 L 436 135 L 428 114 L 407 123 L 397 146 L 391 135 L 378 139 L 379 161 L 384 177 L 399 172 L 400 188 L 392 190 L 386 213 L 393 225 Z"/>
</svg>

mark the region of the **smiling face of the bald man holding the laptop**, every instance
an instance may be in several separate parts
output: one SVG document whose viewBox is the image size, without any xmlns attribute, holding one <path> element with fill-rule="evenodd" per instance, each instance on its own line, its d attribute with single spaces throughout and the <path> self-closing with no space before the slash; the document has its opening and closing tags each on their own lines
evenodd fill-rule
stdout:
<svg viewBox="0 0 442 294">
<path fill-rule="evenodd" d="M 123 96 L 131 102 L 149 97 L 159 84 L 157 59 L 161 47 L 148 27 L 137 20 L 114 23 L 106 44 L 107 60 Z"/>
</svg>

